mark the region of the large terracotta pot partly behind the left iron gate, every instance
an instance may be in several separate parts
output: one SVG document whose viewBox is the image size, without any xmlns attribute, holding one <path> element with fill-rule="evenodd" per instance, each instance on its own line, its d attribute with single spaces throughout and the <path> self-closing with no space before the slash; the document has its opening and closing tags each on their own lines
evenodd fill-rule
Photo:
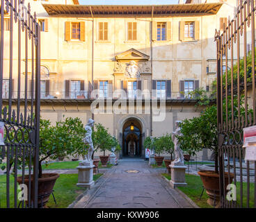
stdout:
<svg viewBox="0 0 256 222">
<path fill-rule="evenodd" d="M 58 173 L 43 173 L 42 178 L 38 178 L 38 208 L 45 207 L 49 200 L 56 180 L 59 178 Z M 17 178 L 17 182 L 22 184 L 22 176 Z M 29 176 L 24 177 L 24 184 L 29 187 Z M 31 175 L 31 187 L 33 187 L 33 175 Z M 42 197 L 43 196 L 43 197 Z M 33 192 L 31 189 L 31 200 L 33 200 Z M 26 201 L 26 204 L 28 201 Z"/>
</svg>

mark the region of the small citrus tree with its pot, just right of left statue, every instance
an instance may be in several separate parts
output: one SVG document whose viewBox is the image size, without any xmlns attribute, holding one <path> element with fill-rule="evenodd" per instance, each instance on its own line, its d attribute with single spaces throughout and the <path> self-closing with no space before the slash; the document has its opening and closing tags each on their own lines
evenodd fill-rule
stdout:
<svg viewBox="0 0 256 222">
<path fill-rule="evenodd" d="M 96 123 L 95 130 L 93 130 L 93 146 L 95 151 L 103 152 L 103 155 L 100 155 L 99 159 L 102 162 L 102 167 L 106 167 L 109 161 L 109 155 L 105 155 L 106 151 L 111 151 L 111 148 L 115 146 L 115 141 L 109 134 L 108 129 L 104 128 L 100 123 Z"/>
</svg>

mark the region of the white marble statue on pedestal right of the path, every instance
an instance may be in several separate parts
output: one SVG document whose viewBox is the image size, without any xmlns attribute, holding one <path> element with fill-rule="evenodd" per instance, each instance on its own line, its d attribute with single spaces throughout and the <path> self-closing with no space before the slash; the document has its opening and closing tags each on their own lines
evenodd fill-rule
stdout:
<svg viewBox="0 0 256 222">
<path fill-rule="evenodd" d="M 181 121 L 175 121 L 175 132 L 172 133 L 172 139 L 173 139 L 173 143 L 174 143 L 174 153 L 175 153 L 175 160 L 173 161 L 173 163 L 176 164 L 184 164 L 184 156 L 183 156 L 183 152 L 182 149 L 180 148 L 180 142 L 179 139 L 177 138 L 177 136 L 182 136 L 181 131 L 181 127 L 180 127 L 180 123 Z"/>
</svg>

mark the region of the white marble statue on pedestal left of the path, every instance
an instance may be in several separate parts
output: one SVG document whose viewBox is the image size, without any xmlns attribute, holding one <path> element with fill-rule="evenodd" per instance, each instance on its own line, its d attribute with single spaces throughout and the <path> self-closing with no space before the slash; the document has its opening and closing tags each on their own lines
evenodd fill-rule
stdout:
<svg viewBox="0 0 256 222">
<path fill-rule="evenodd" d="M 94 148 L 93 148 L 93 139 L 92 139 L 92 133 L 93 133 L 92 128 L 93 128 L 94 122 L 95 121 L 93 119 L 89 119 L 88 123 L 86 123 L 86 126 L 84 127 L 86 130 L 86 135 L 83 138 L 83 142 L 84 142 L 84 144 L 89 146 L 88 153 L 84 157 L 85 162 L 93 161 L 92 157 L 93 157 Z"/>
</svg>

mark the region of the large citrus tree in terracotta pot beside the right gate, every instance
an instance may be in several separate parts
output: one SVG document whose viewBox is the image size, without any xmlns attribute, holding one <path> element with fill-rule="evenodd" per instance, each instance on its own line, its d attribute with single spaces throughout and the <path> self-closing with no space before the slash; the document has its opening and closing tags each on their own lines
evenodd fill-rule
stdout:
<svg viewBox="0 0 256 222">
<path fill-rule="evenodd" d="M 214 171 L 198 171 L 202 184 L 209 196 L 207 203 L 216 206 L 220 200 L 219 171 L 218 171 L 218 132 L 217 132 L 217 108 L 211 105 L 206 108 L 200 117 L 185 120 L 182 123 L 181 146 L 188 152 L 200 151 L 202 148 L 209 148 L 215 154 Z M 189 149 L 188 149 L 189 147 Z M 232 181 L 234 175 L 230 173 Z M 228 176 L 225 173 L 225 187 L 228 184 Z"/>
</svg>

